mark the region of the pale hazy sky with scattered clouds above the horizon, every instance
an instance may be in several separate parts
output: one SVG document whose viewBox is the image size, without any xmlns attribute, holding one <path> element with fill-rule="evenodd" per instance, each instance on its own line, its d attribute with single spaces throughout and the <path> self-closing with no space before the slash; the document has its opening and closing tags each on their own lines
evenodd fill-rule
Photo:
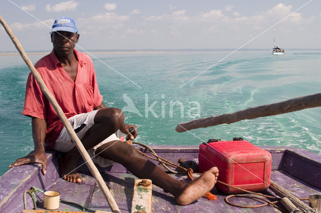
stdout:
<svg viewBox="0 0 321 213">
<path fill-rule="evenodd" d="M 76 20 L 79 50 L 321 48 L 320 0 L 1 0 L 26 51 L 51 50 L 55 19 Z M 0 27 L 0 52 L 16 48 Z"/>
</svg>

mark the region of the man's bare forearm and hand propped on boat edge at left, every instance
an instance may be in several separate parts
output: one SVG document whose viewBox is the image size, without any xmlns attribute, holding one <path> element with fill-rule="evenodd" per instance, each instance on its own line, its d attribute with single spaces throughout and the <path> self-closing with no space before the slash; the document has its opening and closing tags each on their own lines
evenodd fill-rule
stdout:
<svg viewBox="0 0 321 213">
<path fill-rule="evenodd" d="M 32 136 L 34 138 L 35 149 L 34 152 L 28 154 L 25 157 L 18 158 L 14 163 L 12 163 L 9 168 L 14 166 L 19 166 L 27 163 L 41 163 L 42 173 L 46 174 L 47 169 L 47 157 L 45 154 L 45 137 L 47 123 L 45 119 L 32 117 Z"/>
</svg>

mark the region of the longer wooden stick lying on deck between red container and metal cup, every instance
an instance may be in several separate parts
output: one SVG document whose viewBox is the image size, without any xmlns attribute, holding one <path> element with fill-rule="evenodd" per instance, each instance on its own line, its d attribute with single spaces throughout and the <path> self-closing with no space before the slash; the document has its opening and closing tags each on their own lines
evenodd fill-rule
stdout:
<svg viewBox="0 0 321 213">
<path fill-rule="evenodd" d="M 304 202 L 302 202 L 301 200 L 299 200 L 299 198 L 297 198 L 294 194 L 292 194 L 290 191 L 288 191 L 287 189 L 283 188 L 282 186 L 280 186 L 279 184 L 277 184 L 274 181 L 270 181 L 270 187 L 269 187 L 276 195 L 278 195 L 279 197 L 283 198 L 283 197 L 287 197 L 291 200 L 291 202 L 296 206 L 296 207 L 301 207 L 303 209 L 307 209 L 312 211 L 312 208 L 310 206 L 308 206 L 307 204 L 305 204 Z"/>
</svg>

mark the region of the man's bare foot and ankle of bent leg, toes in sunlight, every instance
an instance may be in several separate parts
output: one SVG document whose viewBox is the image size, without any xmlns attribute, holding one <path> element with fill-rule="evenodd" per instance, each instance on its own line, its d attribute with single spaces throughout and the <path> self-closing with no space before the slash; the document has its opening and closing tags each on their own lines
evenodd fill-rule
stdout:
<svg viewBox="0 0 321 213">
<path fill-rule="evenodd" d="M 70 157 L 68 153 L 69 152 L 60 157 L 60 175 L 69 182 L 80 183 L 82 179 L 76 169 L 77 160 Z"/>
</svg>

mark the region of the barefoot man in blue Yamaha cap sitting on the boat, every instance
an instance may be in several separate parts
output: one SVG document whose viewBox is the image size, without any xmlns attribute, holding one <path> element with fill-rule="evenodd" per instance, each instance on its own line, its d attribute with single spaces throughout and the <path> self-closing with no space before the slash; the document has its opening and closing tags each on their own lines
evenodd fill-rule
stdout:
<svg viewBox="0 0 321 213">
<path fill-rule="evenodd" d="M 51 30 L 53 50 L 35 67 L 93 161 L 103 167 L 121 163 L 138 178 L 149 178 L 155 185 L 172 193 L 181 205 L 190 204 L 210 191 L 218 177 L 217 167 L 212 167 L 194 181 L 178 181 L 116 137 L 114 132 L 119 129 L 127 134 L 127 139 L 134 139 L 138 134 L 136 126 L 124 123 L 120 109 L 107 108 L 103 103 L 92 60 L 87 54 L 74 49 L 79 39 L 77 32 L 73 19 L 61 17 L 55 20 Z M 48 149 L 64 153 L 60 158 L 61 176 L 70 182 L 81 182 L 76 169 L 80 153 L 32 73 L 27 80 L 23 114 L 32 117 L 35 149 L 9 167 L 41 163 L 42 172 L 46 174 L 46 145 Z M 129 127 L 135 129 L 132 134 Z"/>
</svg>

